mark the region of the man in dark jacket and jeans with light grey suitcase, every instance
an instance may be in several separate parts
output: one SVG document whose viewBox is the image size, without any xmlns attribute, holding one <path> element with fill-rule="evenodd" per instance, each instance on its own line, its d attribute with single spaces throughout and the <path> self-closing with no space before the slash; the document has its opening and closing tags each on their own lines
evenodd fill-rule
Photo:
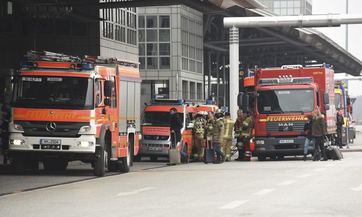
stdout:
<svg viewBox="0 0 362 217">
<path fill-rule="evenodd" d="M 181 118 L 178 115 L 177 109 L 176 108 L 171 108 L 170 109 L 170 140 L 171 140 L 171 145 L 172 148 L 175 148 L 177 143 L 181 141 L 181 129 L 183 127 L 183 124 L 181 122 Z M 176 139 L 176 141 L 175 141 Z M 186 162 L 189 163 L 189 155 L 187 155 L 186 153 L 184 153 L 183 151 L 180 150 L 180 154 L 186 158 Z"/>
</svg>

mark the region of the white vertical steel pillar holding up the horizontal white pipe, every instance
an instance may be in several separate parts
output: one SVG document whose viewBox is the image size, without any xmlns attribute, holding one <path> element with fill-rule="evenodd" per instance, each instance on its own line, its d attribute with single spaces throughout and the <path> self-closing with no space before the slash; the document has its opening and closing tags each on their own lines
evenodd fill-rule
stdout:
<svg viewBox="0 0 362 217">
<path fill-rule="evenodd" d="M 237 94 L 239 93 L 239 28 L 230 27 L 230 75 L 229 75 L 229 111 L 232 120 L 237 118 Z"/>
</svg>

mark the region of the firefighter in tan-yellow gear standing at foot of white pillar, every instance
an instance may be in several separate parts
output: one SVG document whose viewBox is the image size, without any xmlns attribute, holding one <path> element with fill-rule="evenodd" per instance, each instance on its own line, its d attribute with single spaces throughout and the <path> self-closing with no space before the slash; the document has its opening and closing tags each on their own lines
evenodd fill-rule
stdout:
<svg viewBox="0 0 362 217">
<path fill-rule="evenodd" d="M 224 135 L 221 151 L 225 154 L 226 161 L 230 161 L 231 158 L 231 140 L 233 125 L 234 121 L 232 121 L 232 119 L 230 118 L 230 112 L 225 112 Z"/>
</svg>

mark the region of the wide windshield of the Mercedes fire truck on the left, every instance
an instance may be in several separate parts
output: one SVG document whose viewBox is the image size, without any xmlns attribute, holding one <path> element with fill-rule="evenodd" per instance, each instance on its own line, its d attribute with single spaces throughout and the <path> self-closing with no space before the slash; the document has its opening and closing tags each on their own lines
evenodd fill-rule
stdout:
<svg viewBox="0 0 362 217">
<path fill-rule="evenodd" d="M 15 83 L 13 106 L 18 108 L 92 109 L 93 79 L 68 76 L 24 76 Z"/>
</svg>

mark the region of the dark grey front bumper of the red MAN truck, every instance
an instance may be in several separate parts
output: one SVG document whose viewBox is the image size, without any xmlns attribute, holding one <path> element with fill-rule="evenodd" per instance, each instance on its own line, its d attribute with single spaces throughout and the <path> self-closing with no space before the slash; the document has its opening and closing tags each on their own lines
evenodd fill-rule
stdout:
<svg viewBox="0 0 362 217">
<path fill-rule="evenodd" d="M 293 140 L 293 143 L 281 143 L 280 140 Z M 257 141 L 264 141 L 264 144 L 258 144 Z M 305 137 L 298 136 L 294 138 L 273 138 L 257 137 L 255 138 L 256 155 L 303 155 Z M 314 153 L 314 144 L 311 142 L 308 146 L 308 154 Z"/>
</svg>

